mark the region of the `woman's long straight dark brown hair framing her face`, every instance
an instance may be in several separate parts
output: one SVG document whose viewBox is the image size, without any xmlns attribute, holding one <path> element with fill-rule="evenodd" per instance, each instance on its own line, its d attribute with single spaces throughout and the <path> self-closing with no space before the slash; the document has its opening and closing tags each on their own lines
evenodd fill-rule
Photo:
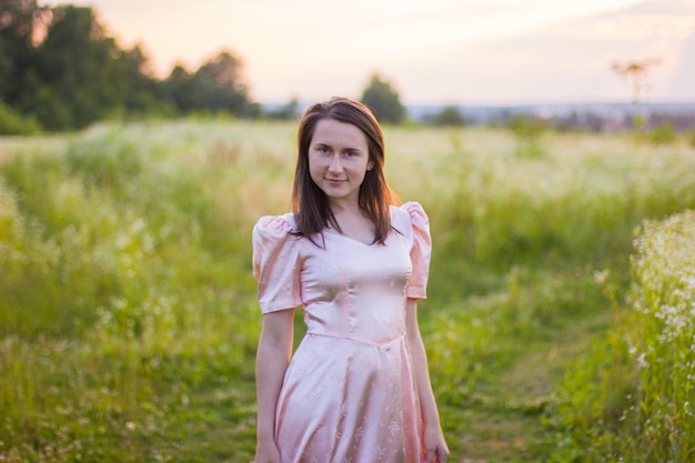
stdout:
<svg viewBox="0 0 695 463">
<path fill-rule="evenodd" d="M 390 207 L 397 197 L 389 187 L 384 175 L 384 135 L 376 118 L 363 103 L 348 98 L 334 97 L 306 109 L 299 124 L 298 158 L 292 188 L 292 212 L 299 234 L 309 238 L 321 233 L 328 225 L 342 232 L 331 211 L 325 193 L 314 183 L 309 172 L 309 147 L 316 123 L 323 119 L 355 125 L 367 141 L 372 169 L 366 171 L 360 185 L 359 204 L 374 224 L 374 242 L 383 244 L 391 232 Z"/>
</svg>

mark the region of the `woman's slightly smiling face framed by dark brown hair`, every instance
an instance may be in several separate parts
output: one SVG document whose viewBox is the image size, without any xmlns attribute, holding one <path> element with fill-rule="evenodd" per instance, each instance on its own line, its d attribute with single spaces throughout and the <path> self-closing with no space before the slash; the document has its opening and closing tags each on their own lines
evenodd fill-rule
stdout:
<svg viewBox="0 0 695 463">
<path fill-rule="evenodd" d="M 331 205 L 356 205 L 372 168 L 364 133 L 355 125 L 321 119 L 309 144 L 309 173 Z"/>
</svg>

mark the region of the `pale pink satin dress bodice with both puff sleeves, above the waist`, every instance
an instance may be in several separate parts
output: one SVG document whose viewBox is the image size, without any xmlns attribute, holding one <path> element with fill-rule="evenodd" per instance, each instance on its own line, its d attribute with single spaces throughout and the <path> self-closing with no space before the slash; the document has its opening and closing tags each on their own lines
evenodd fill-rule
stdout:
<svg viewBox="0 0 695 463">
<path fill-rule="evenodd" d="M 425 294 L 427 218 L 417 203 L 391 209 L 393 230 L 371 245 L 333 230 L 316 245 L 292 214 L 262 218 L 253 232 L 263 313 L 303 305 L 308 333 L 384 345 L 405 332 L 406 298 Z"/>
</svg>

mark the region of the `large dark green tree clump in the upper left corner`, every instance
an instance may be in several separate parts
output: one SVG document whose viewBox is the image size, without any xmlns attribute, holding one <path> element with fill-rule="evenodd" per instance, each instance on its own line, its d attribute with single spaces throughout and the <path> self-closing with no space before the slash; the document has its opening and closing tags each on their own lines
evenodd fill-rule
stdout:
<svg viewBox="0 0 695 463">
<path fill-rule="evenodd" d="M 0 0 L 0 97 L 52 130 L 157 103 L 147 58 L 121 50 L 91 8 Z"/>
</svg>

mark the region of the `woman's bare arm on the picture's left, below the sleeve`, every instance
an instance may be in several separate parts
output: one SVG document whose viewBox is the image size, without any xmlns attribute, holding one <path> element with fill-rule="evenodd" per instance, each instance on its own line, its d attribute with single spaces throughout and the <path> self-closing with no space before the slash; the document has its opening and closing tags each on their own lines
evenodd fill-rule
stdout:
<svg viewBox="0 0 695 463">
<path fill-rule="evenodd" d="M 294 310 L 263 315 L 263 326 L 255 355 L 255 392 L 258 403 L 255 463 L 275 463 L 275 410 L 285 370 L 292 355 Z"/>
</svg>

